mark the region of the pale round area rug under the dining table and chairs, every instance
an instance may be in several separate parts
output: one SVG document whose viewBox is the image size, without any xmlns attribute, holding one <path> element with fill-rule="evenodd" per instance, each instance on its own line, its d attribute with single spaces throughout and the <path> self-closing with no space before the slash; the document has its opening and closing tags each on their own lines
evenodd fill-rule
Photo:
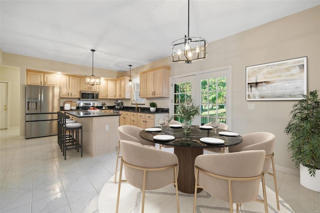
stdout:
<svg viewBox="0 0 320 213">
<path fill-rule="evenodd" d="M 118 177 L 118 176 L 117 176 Z M 122 176 L 122 179 L 123 176 Z M 118 190 L 118 183 L 114 183 L 114 176 L 112 176 L 103 186 L 99 198 L 98 209 L 99 213 L 115 212 L 116 196 Z M 262 188 L 260 185 L 259 196 L 262 197 Z M 279 197 L 280 210 L 276 208 L 275 193 L 266 187 L 268 212 L 293 212 L 291 207 Z M 129 183 L 121 183 L 119 212 L 123 213 L 138 213 L 141 212 L 141 198 L 142 193 L 138 188 L 133 187 Z M 157 190 L 145 191 L 144 212 L 177 212 L 175 188 L 173 185 L 167 185 Z M 180 212 L 193 211 L 193 194 L 186 194 L 179 192 L 179 207 Z M 235 212 L 236 205 L 233 204 L 233 211 Z M 209 193 L 202 190 L 197 194 L 196 212 L 210 213 L 210 212 L 229 212 L 229 203 L 212 197 Z M 264 212 L 263 203 L 252 201 L 242 203 L 239 212 Z"/>
</svg>

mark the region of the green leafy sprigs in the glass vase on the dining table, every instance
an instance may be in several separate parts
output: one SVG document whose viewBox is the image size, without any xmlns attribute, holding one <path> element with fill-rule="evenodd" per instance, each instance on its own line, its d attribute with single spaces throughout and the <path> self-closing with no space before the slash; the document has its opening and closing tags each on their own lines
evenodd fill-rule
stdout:
<svg viewBox="0 0 320 213">
<path fill-rule="evenodd" d="M 182 120 L 191 121 L 196 115 L 200 115 L 200 106 L 195 105 L 191 98 L 186 99 L 176 108 L 176 116 Z"/>
</svg>

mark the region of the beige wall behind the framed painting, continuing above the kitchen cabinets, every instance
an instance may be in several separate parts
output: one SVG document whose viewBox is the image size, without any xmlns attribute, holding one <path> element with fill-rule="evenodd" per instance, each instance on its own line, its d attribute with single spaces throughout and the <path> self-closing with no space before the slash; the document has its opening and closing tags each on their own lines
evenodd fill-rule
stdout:
<svg viewBox="0 0 320 213">
<path fill-rule="evenodd" d="M 320 89 L 320 6 L 211 42 L 208 44 L 207 51 L 207 58 L 192 64 L 172 63 L 169 58 L 163 58 L 140 67 L 133 66 L 131 76 L 138 76 L 140 71 L 160 65 L 171 67 L 170 76 L 231 65 L 232 131 L 240 134 L 254 131 L 274 133 L 276 136 L 274 153 L 277 167 L 296 172 L 297 169 L 291 162 L 290 153 L 287 152 L 289 136 L 283 133 L 289 119 L 289 111 L 296 101 L 246 101 L 245 66 L 307 56 L 307 88 L 308 90 Z M 62 70 L 82 75 L 84 72 L 90 73 L 90 67 L 5 52 L 2 53 L 2 62 L 5 65 L 21 68 L 21 85 L 25 83 L 26 68 Z M 129 73 L 98 70 L 94 71 L 94 74 L 116 78 Z M 20 91 L 22 100 L 23 91 Z M 161 103 L 159 107 L 169 105 L 168 98 L 152 99 Z M 128 102 L 128 100 L 125 101 L 125 103 Z M 248 110 L 248 103 L 254 103 L 255 109 Z M 24 113 L 23 110 L 20 111 Z M 22 118 L 20 125 L 24 126 Z"/>
</svg>

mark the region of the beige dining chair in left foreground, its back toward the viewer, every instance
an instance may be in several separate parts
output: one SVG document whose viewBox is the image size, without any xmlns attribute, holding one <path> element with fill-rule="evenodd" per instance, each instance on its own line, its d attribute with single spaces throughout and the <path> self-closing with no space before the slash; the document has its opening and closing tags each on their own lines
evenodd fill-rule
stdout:
<svg viewBox="0 0 320 213">
<path fill-rule="evenodd" d="M 118 212 L 119 209 L 121 182 L 124 181 L 142 190 L 142 213 L 144 211 L 145 190 L 154 190 L 168 184 L 174 184 L 177 212 L 179 212 L 177 156 L 171 152 L 146 147 L 143 144 L 127 140 L 120 140 L 120 145 L 122 157 L 119 171 L 116 212 Z M 124 168 L 125 180 L 121 180 L 122 168 Z"/>
</svg>

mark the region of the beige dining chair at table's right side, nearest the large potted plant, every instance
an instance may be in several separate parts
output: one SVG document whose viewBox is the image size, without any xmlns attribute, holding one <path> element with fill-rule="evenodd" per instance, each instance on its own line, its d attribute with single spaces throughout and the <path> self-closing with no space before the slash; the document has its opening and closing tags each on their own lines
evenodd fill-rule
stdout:
<svg viewBox="0 0 320 213">
<path fill-rule="evenodd" d="M 274 168 L 274 158 L 273 158 L 273 148 L 275 143 L 275 135 L 270 132 L 252 132 L 248 134 L 243 134 L 242 142 L 229 147 L 229 152 L 236 151 L 246 151 L 246 150 L 264 150 L 265 151 L 265 161 L 263 165 L 263 173 L 270 174 L 273 176 L 275 196 L 276 196 L 276 205 L 277 209 L 280 210 L 279 205 L 279 195 L 278 188 L 276 184 L 276 175 Z M 272 173 L 269 172 L 270 162 L 272 164 Z"/>
</svg>

